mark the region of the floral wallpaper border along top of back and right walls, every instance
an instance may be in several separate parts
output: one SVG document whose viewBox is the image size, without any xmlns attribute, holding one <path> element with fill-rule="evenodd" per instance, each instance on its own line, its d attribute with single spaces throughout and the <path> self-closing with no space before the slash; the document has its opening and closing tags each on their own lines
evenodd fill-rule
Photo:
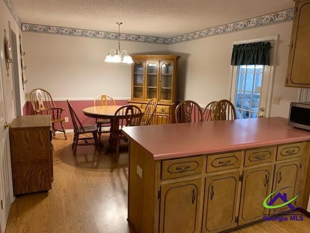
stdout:
<svg viewBox="0 0 310 233">
<path fill-rule="evenodd" d="M 5 1 L 10 1 L 10 0 L 5 0 Z M 174 43 L 180 43 L 180 42 L 190 41 L 194 39 L 200 39 L 200 38 L 204 38 L 207 36 L 213 36 L 213 35 L 218 35 L 218 34 L 223 34 L 223 33 L 233 33 L 233 32 L 252 29 L 256 27 L 262 27 L 266 25 L 282 23 L 285 21 L 291 21 L 293 20 L 293 18 L 294 18 L 294 8 L 290 8 L 290 9 L 282 10 L 279 12 L 267 14 L 264 16 L 253 17 L 253 18 L 245 19 L 242 21 L 234 22 L 234 23 L 229 23 L 229 24 L 225 24 L 225 25 L 221 25 L 221 26 L 217 26 L 213 28 L 204 29 L 198 32 L 186 33 L 184 35 L 174 36 L 171 38 L 121 33 L 120 39 L 125 40 L 125 41 L 133 41 L 133 42 L 174 44 Z M 56 27 L 56 26 L 47 26 L 47 25 L 37 25 L 37 24 L 28 24 L 28 23 L 22 23 L 21 26 L 22 26 L 22 31 L 26 31 L 26 32 L 75 35 L 75 36 L 100 38 L 100 39 L 114 39 L 114 40 L 118 39 L 118 33 L 112 33 L 112 32 L 102 32 L 102 31 L 65 28 L 65 27 Z"/>
</svg>

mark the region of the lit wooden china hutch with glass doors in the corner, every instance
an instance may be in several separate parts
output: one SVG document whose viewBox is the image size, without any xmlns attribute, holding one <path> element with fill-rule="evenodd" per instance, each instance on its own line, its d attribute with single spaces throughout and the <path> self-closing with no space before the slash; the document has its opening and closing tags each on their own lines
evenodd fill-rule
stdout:
<svg viewBox="0 0 310 233">
<path fill-rule="evenodd" d="M 133 55 L 131 100 L 129 104 L 144 108 L 149 100 L 157 99 L 152 124 L 174 122 L 178 60 L 172 55 Z"/>
</svg>

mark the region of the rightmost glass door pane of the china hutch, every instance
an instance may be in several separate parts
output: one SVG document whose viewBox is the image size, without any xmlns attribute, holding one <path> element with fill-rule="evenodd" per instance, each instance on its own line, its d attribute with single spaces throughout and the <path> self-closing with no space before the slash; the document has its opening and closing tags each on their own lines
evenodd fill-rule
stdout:
<svg viewBox="0 0 310 233">
<path fill-rule="evenodd" d="M 161 64 L 161 77 L 160 77 L 160 99 L 171 100 L 172 91 L 172 75 L 174 65 L 169 62 Z"/>
</svg>

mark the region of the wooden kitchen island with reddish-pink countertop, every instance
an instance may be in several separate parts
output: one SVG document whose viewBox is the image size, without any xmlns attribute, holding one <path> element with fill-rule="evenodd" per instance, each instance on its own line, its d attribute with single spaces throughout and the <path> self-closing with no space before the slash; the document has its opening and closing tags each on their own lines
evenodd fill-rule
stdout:
<svg viewBox="0 0 310 233">
<path fill-rule="evenodd" d="M 300 191 L 292 204 L 307 207 L 310 132 L 288 127 L 285 118 L 123 132 L 129 139 L 128 222 L 136 233 L 217 233 L 252 224 L 289 210 L 263 207 L 285 187 L 287 200 Z"/>
</svg>

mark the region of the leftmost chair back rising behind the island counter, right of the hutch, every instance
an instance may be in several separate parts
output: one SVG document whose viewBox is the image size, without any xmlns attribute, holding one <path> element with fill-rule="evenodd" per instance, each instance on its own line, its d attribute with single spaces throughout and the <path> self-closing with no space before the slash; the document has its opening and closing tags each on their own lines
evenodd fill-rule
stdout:
<svg viewBox="0 0 310 233">
<path fill-rule="evenodd" d="M 174 111 L 176 123 L 203 121 L 202 108 L 198 103 L 185 100 L 178 104 Z"/>
</svg>

